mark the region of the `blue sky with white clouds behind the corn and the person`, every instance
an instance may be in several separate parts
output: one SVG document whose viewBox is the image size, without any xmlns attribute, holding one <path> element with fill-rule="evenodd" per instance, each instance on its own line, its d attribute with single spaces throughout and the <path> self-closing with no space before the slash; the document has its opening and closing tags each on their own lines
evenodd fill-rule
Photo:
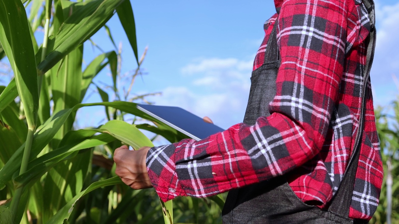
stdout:
<svg viewBox="0 0 399 224">
<path fill-rule="evenodd" d="M 222 128 L 242 122 L 249 94 L 255 53 L 263 39 L 263 23 L 275 13 L 271 0 L 254 1 L 134 1 L 138 51 L 148 52 L 133 92 L 162 92 L 147 98 L 158 105 L 180 106 L 209 116 Z M 376 0 L 377 49 L 371 71 L 375 106 L 387 105 L 398 92 L 392 75 L 399 75 L 399 1 Z M 122 43 L 122 73 L 136 68 L 126 35 L 114 16 L 107 24 Z M 104 29 L 93 41 L 113 49 Z M 100 52 L 85 46 L 85 59 Z M 109 82 L 107 72 L 97 82 Z M 399 76 L 398 76 L 399 77 Z M 121 84 L 126 84 L 121 83 Z M 93 94 L 88 101 L 99 101 Z M 93 109 L 82 110 L 85 125 L 98 125 Z M 96 112 L 103 116 L 103 109 Z"/>
</svg>

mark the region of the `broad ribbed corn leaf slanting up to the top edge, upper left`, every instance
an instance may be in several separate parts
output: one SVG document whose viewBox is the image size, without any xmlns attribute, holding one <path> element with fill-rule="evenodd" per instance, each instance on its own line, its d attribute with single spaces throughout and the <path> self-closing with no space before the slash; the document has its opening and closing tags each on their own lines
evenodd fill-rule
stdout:
<svg viewBox="0 0 399 224">
<path fill-rule="evenodd" d="M 94 0 L 75 10 L 63 22 L 57 34 L 50 37 L 48 49 L 52 50 L 38 65 L 40 73 L 45 73 L 103 27 L 121 2 L 122 0 Z"/>
</svg>

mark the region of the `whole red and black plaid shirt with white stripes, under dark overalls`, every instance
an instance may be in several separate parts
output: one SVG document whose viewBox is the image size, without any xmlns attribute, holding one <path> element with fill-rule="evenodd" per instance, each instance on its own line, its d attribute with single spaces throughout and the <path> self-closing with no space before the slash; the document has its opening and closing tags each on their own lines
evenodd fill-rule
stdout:
<svg viewBox="0 0 399 224">
<path fill-rule="evenodd" d="M 358 131 L 369 16 L 361 0 L 275 0 L 275 5 L 279 16 L 265 23 L 253 67 L 263 63 L 277 24 L 281 67 L 271 116 L 201 141 L 153 147 L 148 174 L 163 201 L 207 197 L 285 174 L 302 201 L 320 208 L 336 193 Z M 383 177 L 368 88 L 349 215 L 366 220 L 377 208 Z"/>
</svg>

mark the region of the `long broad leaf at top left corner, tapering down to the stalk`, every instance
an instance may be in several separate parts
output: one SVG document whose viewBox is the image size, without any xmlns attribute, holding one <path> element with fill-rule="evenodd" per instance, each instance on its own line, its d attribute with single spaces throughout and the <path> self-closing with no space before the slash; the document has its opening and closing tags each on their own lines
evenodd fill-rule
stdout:
<svg viewBox="0 0 399 224">
<path fill-rule="evenodd" d="M 28 127 L 35 128 L 39 106 L 38 74 L 28 18 L 20 0 L 0 2 L 0 42 L 14 71 Z"/>
</svg>

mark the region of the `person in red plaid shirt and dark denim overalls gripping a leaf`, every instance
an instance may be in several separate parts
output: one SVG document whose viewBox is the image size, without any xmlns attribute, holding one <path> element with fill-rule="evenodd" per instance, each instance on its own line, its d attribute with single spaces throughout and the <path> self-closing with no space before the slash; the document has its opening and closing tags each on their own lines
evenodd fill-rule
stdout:
<svg viewBox="0 0 399 224">
<path fill-rule="evenodd" d="M 229 191 L 223 223 L 365 223 L 383 178 L 367 76 L 373 2 L 275 6 L 255 57 L 244 123 L 200 141 L 122 146 L 116 173 L 133 189 L 154 187 L 163 201 Z M 270 98 L 266 106 L 262 97 Z"/>
</svg>

